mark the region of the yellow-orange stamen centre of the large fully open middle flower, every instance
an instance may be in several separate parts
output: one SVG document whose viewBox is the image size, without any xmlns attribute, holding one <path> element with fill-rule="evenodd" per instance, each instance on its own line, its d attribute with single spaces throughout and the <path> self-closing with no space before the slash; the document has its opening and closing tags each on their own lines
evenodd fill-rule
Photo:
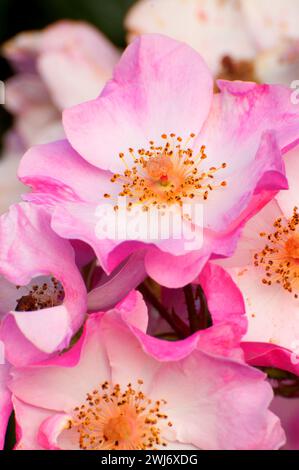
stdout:
<svg viewBox="0 0 299 470">
<path fill-rule="evenodd" d="M 195 134 L 190 134 L 185 143 L 175 134 L 162 134 L 163 145 L 157 146 L 150 141 L 149 149 L 135 152 L 129 149 L 130 162 L 124 153 L 120 158 L 125 165 L 123 174 L 114 174 L 112 183 L 121 186 L 120 197 L 128 199 L 128 208 L 133 204 L 142 204 L 144 210 L 150 206 L 165 208 L 165 205 L 179 204 L 200 197 L 208 199 L 209 193 L 226 186 L 226 181 L 215 178 L 217 172 L 226 168 L 226 163 L 219 167 L 201 168 L 207 159 L 205 146 L 198 153 L 188 147 Z M 104 194 L 110 198 L 110 194 Z M 114 207 L 115 210 L 118 206 Z"/>
</svg>

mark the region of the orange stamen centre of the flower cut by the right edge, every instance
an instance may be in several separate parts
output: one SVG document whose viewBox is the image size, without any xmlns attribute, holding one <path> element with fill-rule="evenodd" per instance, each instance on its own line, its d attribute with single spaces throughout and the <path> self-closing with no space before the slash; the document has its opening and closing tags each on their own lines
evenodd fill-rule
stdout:
<svg viewBox="0 0 299 470">
<path fill-rule="evenodd" d="M 274 231 L 260 236 L 268 240 L 264 249 L 254 255 L 255 266 L 262 266 L 266 276 L 263 284 L 281 284 L 298 298 L 299 294 L 299 214 L 295 207 L 289 220 L 277 219 Z"/>
</svg>

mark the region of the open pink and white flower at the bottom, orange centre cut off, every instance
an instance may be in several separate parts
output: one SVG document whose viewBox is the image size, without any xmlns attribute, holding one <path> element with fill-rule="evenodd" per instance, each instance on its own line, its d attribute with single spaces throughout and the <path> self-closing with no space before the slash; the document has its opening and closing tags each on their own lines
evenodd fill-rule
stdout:
<svg viewBox="0 0 299 470">
<path fill-rule="evenodd" d="M 281 447 L 264 375 L 201 350 L 197 335 L 175 344 L 146 336 L 136 296 L 91 315 L 64 355 L 12 371 L 17 449 Z"/>
</svg>

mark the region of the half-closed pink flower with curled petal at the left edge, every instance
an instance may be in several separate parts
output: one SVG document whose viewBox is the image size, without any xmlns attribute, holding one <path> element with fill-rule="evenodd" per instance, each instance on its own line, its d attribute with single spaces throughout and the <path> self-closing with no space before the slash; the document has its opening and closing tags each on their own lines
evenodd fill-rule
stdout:
<svg viewBox="0 0 299 470">
<path fill-rule="evenodd" d="M 13 364 L 68 347 L 84 321 L 87 295 L 74 250 L 42 207 L 21 203 L 0 219 L 0 299 L 0 335 Z"/>
</svg>

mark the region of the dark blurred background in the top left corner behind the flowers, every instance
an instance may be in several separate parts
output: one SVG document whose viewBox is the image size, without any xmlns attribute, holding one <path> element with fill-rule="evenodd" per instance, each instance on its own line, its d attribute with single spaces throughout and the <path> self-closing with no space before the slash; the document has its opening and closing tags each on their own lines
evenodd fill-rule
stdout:
<svg viewBox="0 0 299 470">
<path fill-rule="evenodd" d="M 117 46 L 125 46 L 123 19 L 134 0 L 0 0 L 0 44 L 15 34 L 41 29 L 59 19 L 85 20 L 95 25 Z M 0 57 L 0 80 L 12 74 Z M 0 143 L 11 118 L 0 106 Z"/>
</svg>

